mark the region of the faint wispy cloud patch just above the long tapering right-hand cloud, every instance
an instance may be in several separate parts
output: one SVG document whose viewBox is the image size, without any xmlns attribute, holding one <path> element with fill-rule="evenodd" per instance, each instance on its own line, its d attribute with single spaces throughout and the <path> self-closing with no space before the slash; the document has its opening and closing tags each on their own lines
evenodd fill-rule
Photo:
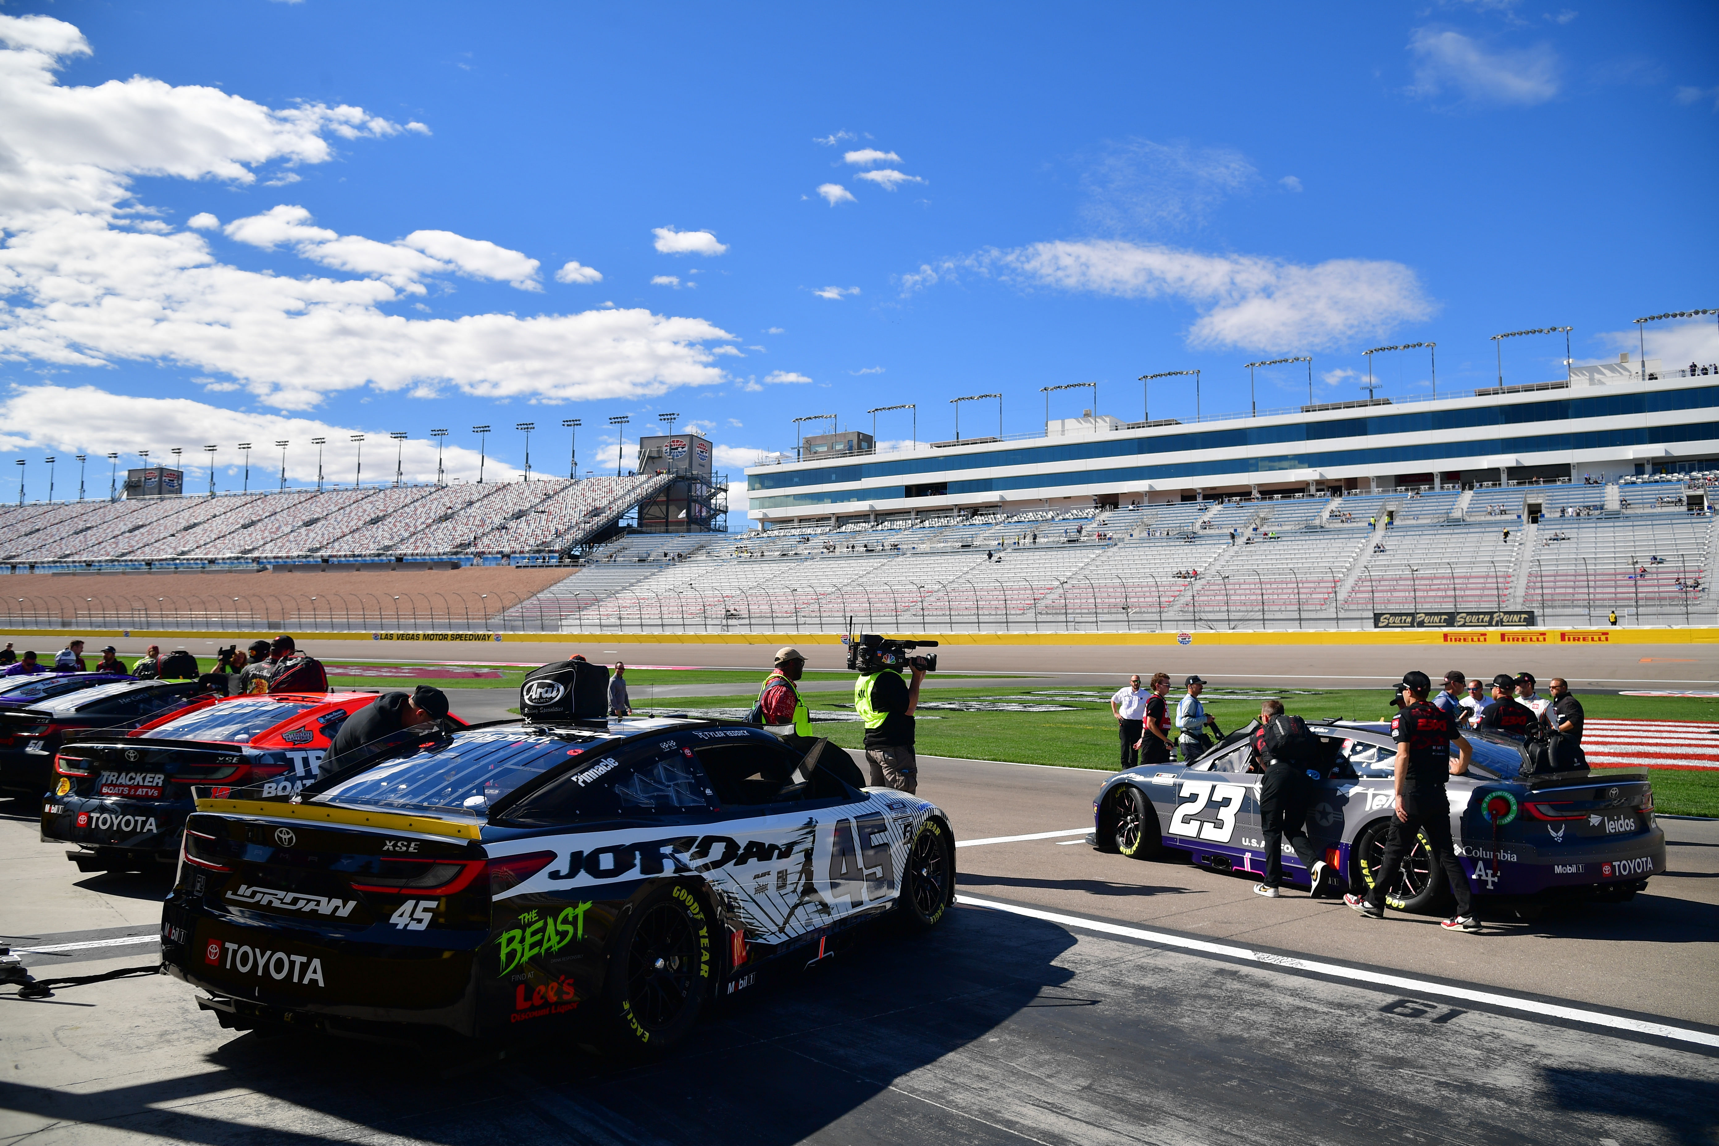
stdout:
<svg viewBox="0 0 1719 1146">
<path fill-rule="evenodd" d="M 1226 198 L 1257 180 L 1248 158 L 1231 148 L 1123 139 L 1081 172 L 1081 215 L 1112 235 L 1198 230 Z"/>
</svg>

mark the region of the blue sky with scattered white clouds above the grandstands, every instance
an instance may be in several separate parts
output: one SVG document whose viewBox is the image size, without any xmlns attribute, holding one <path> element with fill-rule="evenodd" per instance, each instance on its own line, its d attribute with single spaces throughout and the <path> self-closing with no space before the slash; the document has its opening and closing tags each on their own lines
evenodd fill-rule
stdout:
<svg viewBox="0 0 1719 1146">
<path fill-rule="evenodd" d="M 918 402 L 942 440 L 949 399 L 1000 392 L 1026 433 L 1040 387 L 1138 419 L 1135 378 L 1190 368 L 1205 414 L 1246 411 L 1243 363 L 1296 354 L 1355 399 L 1360 351 L 1420 340 L 1454 392 L 1499 332 L 1597 361 L 1719 306 L 1712 5 L 614 7 L 0 9 L 28 497 L 50 454 L 208 443 L 229 488 L 241 440 L 260 467 L 292 440 L 299 483 L 313 435 L 330 476 L 364 433 L 392 478 L 390 431 L 423 479 L 431 428 L 474 478 L 473 424 L 505 476 L 517 421 L 564 474 L 564 418 L 612 472 L 607 419 L 665 411 L 737 476 L 801 414 Z M 1716 361 L 1714 330 L 1649 354 Z M 1561 359 L 1513 340 L 1506 381 Z M 1379 375 L 1428 387 L 1418 354 Z M 1260 371 L 1262 409 L 1305 397 Z"/>
</svg>

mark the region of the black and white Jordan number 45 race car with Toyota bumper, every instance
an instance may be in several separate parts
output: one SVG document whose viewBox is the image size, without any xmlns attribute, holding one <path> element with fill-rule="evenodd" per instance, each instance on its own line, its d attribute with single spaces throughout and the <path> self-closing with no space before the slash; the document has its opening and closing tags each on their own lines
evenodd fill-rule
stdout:
<svg viewBox="0 0 1719 1146">
<path fill-rule="evenodd" d="M 301 794 L 199 799 L 162 916 L 229 1027 L 662 1053 L 713 997 L 954 902 L 933 804 L 713 720 L 428 725 Z"/>
</svg>

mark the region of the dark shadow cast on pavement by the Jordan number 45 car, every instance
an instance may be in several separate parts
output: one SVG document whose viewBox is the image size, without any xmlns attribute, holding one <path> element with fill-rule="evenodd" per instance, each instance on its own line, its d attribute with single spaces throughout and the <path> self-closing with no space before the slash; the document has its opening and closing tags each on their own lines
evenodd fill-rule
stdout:
<svg viewBox="0 0 1719 1146">
<path fill-rule="evenodd" d="M 817 967 L 765 979 L 707 1010 L 662 1062 L 633 1067 L 567 1038 L 514 1046 L 505 1058 L 471 1050 L 462 1058 L 430 1046 L 227 1034 L 184 988 L 174 1003 L 182 1010 L 158 1026 L 113 1009 L 103 1046 L 113 1062 L 88 1064 L 91 1077 L 110 1082 L 0 1079 L 0 1108 L 98 1124 L 103 1141 L 222 1146 L 395 1134 L 461 1146 L 550 1137 L 787 1146 L 837 1124 L 842 1139 L 990 1139 L 985 1119 L 904 1076 L 985 1043 L 1028 1010 L 1097 1005 L 1066 990 L 1074 972 L 1055 962 L 1074 942 L 1049 923 L 954 907 L 930 935 L 878 931 Z M 117 1070 L 136 1057 L 156 1064 L 148 1081 Z M 175 1069 L 162 1070 L 167 1062 Z"/>
</svg>

